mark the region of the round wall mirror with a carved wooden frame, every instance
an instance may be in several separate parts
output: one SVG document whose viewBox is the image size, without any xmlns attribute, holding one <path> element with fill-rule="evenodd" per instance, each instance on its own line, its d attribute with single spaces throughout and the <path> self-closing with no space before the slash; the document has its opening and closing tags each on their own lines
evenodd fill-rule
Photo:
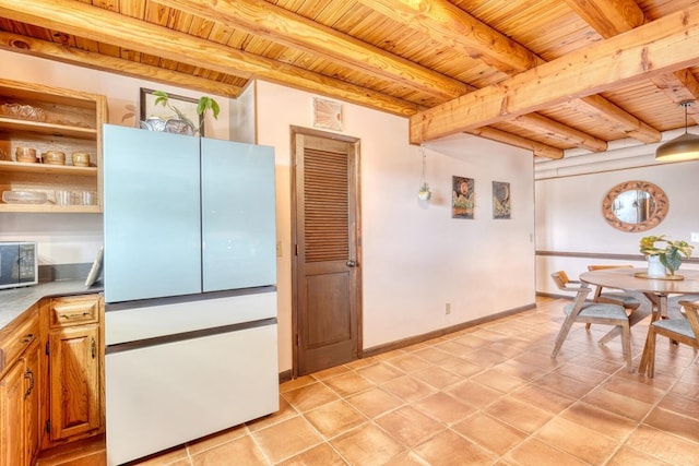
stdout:
<svg viewBox="0 0 699 466">
<path fill-rule="evenodd" d="M 645 231 L 660 225 L 670 203 L 665 192 L 648 181 L 626 181 L 612 188 L 602 201 L 602 215 L 621 231 Z"/>
</svg>

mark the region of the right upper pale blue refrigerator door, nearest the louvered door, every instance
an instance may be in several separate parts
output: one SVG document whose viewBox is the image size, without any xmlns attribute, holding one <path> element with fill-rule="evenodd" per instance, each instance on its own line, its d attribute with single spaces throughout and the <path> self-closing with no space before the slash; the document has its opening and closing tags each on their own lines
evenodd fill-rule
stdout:
<svg viewBox="0 0 699 466">
<path fill-rule="evenodd" d="M 274 150 L 201 140 L 203 290 L 276 284 Z"/>
</svg>

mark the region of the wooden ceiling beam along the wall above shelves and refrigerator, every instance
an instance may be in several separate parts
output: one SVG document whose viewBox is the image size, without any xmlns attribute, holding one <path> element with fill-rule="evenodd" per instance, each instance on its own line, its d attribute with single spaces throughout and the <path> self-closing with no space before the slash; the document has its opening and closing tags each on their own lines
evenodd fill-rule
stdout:
<svg viewBox="0 0 699 466">
<path fill-rule="evenodd" d="M 0 48 L 34 57 L 62 61 L 64 63 L 120 73 L 127 76 L 141 77 L 164 84 L 193 88 L 206 94 L 221 95 L 229 98 L 238 97 L 242 91 L 240 86 L 217 83 L 204 77 L 192 76 L 191 74 L 137 63 L 131 60 L 123 60 L 121 58 L 85 51 L 74 47 L 66 47 L 56 43 L 34 39 L 27 36 L 20 36 L 17 34 L 0 32 Z"/>
</svg>

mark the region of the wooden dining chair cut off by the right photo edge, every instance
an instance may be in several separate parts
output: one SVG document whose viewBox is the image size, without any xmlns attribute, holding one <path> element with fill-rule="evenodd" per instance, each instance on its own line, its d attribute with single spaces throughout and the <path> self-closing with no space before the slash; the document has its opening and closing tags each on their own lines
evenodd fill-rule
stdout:
<svg viewBox="0 0 699 466">
<path fill-rule="evenodd" d="M 656 335 L 666 336 L 671 343 L 682 343 L 699 349 L 699 301 L 679 301 L 679 306 L 685 310 L 684 316 L 659 319 L 653 314 L 655 320 L 648 328 L 639 373 L 645 372 L 651 379 L 654 377 Z"/>
</svg>

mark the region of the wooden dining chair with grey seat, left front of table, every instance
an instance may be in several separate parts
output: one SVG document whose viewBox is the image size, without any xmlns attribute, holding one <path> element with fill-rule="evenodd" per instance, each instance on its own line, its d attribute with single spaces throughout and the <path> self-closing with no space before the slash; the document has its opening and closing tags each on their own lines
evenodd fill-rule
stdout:
<svg viewBox="0 0 699 466">
<path fill-rule="evenodd" d="M 626 370 L 633 372 L 631 368 L 631 331 L 629 326 L 629 318 L 626 315 L 624 307 L 611 302 L 594 302 L 587 301 L 587 297 L 591 289 L 588 284 L 583 284 L 579 280 L 571 280 L 564 271 L 553 273 L 552 278 L 556 283 L 558 289 L 562 291 L 576 291 L 573 301 L 564 307 L 566 313 L 566 320 L 558 331 L 556 343 L 554 344 L 554 350 L 550 354 L 552 358 L 558 356 L 558 351 L 564 344 L 564 340 L 568 336 L 572 324 L 576 322 L 615 325 L 621 330 L 621 349 L 624 353 L 624 359 L 626 360 Z M 571 286 L 577 284 L 579 286 Z"/>
</svg>

